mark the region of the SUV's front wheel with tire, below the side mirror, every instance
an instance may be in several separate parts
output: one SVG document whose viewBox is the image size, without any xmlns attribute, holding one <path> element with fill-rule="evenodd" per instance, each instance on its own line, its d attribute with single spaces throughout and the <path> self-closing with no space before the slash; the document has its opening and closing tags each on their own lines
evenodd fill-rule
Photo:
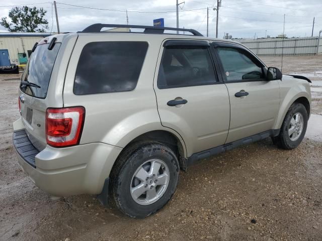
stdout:
<svg viewBox="0 0 322 241">
<path fill-rule="evenodd" d="M 293 103 L 288 109 L 280 133 L 273 137 L 273 143 L 279 148 L 291 150 L 303 140 L 307 128 L 308 114 L 301 103 Z"/>
</svg>

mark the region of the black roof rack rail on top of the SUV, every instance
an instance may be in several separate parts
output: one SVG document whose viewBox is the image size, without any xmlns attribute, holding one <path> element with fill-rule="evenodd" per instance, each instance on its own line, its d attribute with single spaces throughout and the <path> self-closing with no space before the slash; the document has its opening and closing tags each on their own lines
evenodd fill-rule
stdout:
<svg viewBox="0 0 322 241">
<path fill-rule="evenodd" d="M 125 25 L 125 24 L 92 24 L 79 33 L 100 33 L 102 28 L 132 28 L 132 29 L 144 29 L 145 34 L 163 34 L 165 30 L 190 32 L 195 36 L 203 36 L 201 33 L 194 29 L 179 29 L 168 27 L 153 27 L 143 25 Z"/>
</svg>

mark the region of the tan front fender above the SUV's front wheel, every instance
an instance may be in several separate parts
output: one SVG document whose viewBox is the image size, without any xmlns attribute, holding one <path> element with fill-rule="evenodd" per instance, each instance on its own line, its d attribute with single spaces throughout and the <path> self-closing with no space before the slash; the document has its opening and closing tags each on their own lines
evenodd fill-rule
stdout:
<svg viewBox="0 0 322 241">
<path fill-rule="evenodd" d="M 305 97 L 311 105 L 311 92 L 308 82 L 304 80 L 298 80 L 300 84 L 294 84 L 294 80 L 294 78 L 283 78 L 283 81 L 280 82 L 280 107 L 274 129 L 281 128 L 288 109 L 290 108 L 292 103 L 295 102 L 296 99 L 300 97 Z"/>
</svg>

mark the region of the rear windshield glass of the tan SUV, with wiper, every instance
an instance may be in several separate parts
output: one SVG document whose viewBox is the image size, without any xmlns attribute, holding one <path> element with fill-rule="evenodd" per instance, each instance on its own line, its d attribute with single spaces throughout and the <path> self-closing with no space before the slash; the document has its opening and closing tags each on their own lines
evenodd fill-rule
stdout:
<svg viewBox="0 0 322 241">
<path fill-rule="evenodd" d="M 56 43 L 52 50 L 48 50 L 49 44 L 38 45 L 31 54 L 25 72 L 21 78 L 22 81 L 39 85 L 23 85 L 21 90 L 31 96 L 45 98 L 51 76 L 52 69 L 60 48 L 60 43 Z"/>
</svg>

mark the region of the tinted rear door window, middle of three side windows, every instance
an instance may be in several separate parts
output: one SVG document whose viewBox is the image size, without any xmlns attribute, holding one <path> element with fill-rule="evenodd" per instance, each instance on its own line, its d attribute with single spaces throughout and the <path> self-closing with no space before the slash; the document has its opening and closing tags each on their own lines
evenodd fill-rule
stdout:
<svg viewBox="0 0 322 241">
<path fill-rule="evenodd" d="M 216 82 L 208 47 L 166 47 L 160 63 L 159 89 L 208 85 Z"/>
</svg>

